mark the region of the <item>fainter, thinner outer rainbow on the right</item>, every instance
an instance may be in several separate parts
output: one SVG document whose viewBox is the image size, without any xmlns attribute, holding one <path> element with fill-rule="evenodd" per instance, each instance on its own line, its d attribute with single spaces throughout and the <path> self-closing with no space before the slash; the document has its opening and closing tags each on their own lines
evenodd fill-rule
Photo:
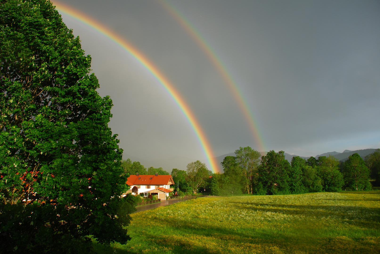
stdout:
<svg viewBox="0 0 380 254">
<path fill-rule="evenodd" d="M 171 14 L 171 16 L 174 17 L 174 19 L 177 20 L 177 22 L 179 22 L 179 24 L 184 28 L 184 30 L 187 31 L 188 34 L 190 34 L 193 40 L 196 41 L 196 43 L 198 43 L 201 49 L 206 53 L 207 57 L 211 60 L 211 62 L 220 72 L 223 79 L 228 84 L 231 92 L 233 93 L 234 98 L 236 99 L 239 107 L 241 108 L 252 131 L 252 134 L 255 138 L 256 144 L 258 145 L 258 148 L 260 149 L 260 151 L 266 151 L 263 143 L 263 138 L 259 132 L 255 118 L 253 117 L 253 113 L 250 111 L 250 107 L 248 106 L 247 100 L 244 98 L 243 93 L 236 85 L 236 82 L 234 82 L 233 78 L 228 73 L 226 67 L 223 66 L 222 61 L 218 58 L 215 52 L 207 44 L 206 40 L 202 38 L 201 34 L 196 30 L 195 27 L 191 25 L 191 23 L 186 19 L 184 15 L 180 15 L 180 12 L 173 6 L 169 5 L 169 3 L 167 3 L 165 0 L 158 0 L 158 2 L 161 3 L 161 5 L 168 11 L 168 13 Z"/>
</svg>

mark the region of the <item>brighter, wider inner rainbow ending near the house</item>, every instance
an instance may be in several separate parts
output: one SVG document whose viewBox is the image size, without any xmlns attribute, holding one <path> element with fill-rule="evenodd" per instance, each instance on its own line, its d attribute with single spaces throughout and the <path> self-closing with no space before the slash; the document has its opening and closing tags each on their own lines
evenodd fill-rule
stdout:
<svg viewBox="0 0 380 254">
<path fill-rule="evenodd" d="M 187 118 L 188 122 L 192 126 L 196 136 L 198 137 L 199 143 L 202 146 L 204 154 L 208 160 L 208 164 L 211 167 L 213 172 L 218 172 L 218 165 L 215 160 L 215 156 L 212 152 L 211 145 L 206 138 L 204 131 L 201 128 L 201 125 L 196 120 L 193 112 L 190 110 L 190 107 L 187 105 L 185 100 L 180 96 L 180 94 L 176 91 L 174 86 L 169 82 L 169 80 L 159 71 L 159 69 L 149 61 L 149 59 L 144 56 L 141 52 L 139 52 L 135 47 L 133 47 L 126 39 L 122 38 L 112 30 L 110 30 L 105 25 L 100 24 L 97 20 L 90 18 L 86 14 L 67 6 L 63 3 L 53 1 L 55 5 L 55 9 L 57 9 L 60 13 L 64 13 L 73 19 L 78 20 L 79 22 L 93 28 L 97 32 L 105 35 L 111 41 L 114 41 L 118 44 L 122 49 L 130 53 L 139 63 L 142 64 L 163 86 L 163 88 L 170 94 L 170 96 L 174 99 L 182 113 Z"/>
</svg>

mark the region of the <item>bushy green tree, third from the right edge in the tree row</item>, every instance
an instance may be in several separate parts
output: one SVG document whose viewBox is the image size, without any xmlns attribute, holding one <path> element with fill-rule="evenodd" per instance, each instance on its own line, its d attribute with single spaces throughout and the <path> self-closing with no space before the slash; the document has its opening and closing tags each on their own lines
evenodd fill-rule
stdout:
<svg viewBox="0 0 380 254">
<path fill-rule="evenodd" d="M 344 185 L 342 173 L 339 171 L 339 161 L 332 155 L 320 156 L 318 165 L 315 166 L 318 176 L 321 178 L 322 190 L 341 191 Z"/>
</svg>

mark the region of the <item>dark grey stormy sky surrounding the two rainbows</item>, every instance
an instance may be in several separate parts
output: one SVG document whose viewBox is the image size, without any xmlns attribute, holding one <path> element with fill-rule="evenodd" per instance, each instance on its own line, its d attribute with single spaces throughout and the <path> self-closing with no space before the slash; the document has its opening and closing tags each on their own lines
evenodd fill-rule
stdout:
<svg viewBox="0 0 380 254">
<path fill-rule="evenodd" d="M 239 146 L 259 149 L 220 73 L 160 2 L 61 2 L 143 52 L 188 102 L 215 156 Z M 315 156 L 380 147 L 379 1 L 168 3 L 236 80 L 267 151 Z M 62 17 L 92 56 L 99 93 L 113 100 L 109 126 L 127 157 L 206 162 L 192 128 L 157 80 L 105 36 Z"/>
</svg>

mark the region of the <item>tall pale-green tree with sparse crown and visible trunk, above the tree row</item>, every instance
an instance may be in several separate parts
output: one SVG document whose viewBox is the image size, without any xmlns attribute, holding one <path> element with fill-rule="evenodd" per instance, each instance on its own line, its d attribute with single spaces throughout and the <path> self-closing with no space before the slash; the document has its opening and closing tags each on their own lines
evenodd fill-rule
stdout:
<svg viewBox="0 0 380 254">
<path fill-rule="evenodd" d="M 252 194 L 252 186 L 257 183 L 257 167 L 260 165 L 261 154 L 251 147 L 239 147 L 235 151 L 236 163 L 242 169 L 245 176 L 245 191 Z"/>
</svg>

